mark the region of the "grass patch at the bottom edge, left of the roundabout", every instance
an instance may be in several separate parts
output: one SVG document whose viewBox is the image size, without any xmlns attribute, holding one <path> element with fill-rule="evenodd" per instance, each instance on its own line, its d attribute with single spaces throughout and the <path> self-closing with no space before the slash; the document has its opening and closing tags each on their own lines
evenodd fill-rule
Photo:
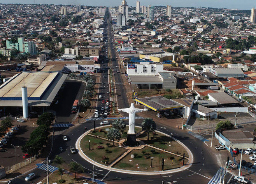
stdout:
<svg viewBox="0 0 256 184">
<path fill-rule="evenodd" d="M 77 176 L 78 178 L 78 176 Z M 92 183 L 91 181 L 87 181 L 82 178 L 74 179 L 74 175 L 63 174 L 62 179 L 65 180 L 64 183 L 58 182 L 61 179 L 61 176 L 58 174 L 58 171 L 55 171 L 53 174 L 49 175 L 49 183 L 56 182 L 57 184 L 83 184 L 83 183 Z M 47 179 L 44 179 L 42 183 L 47 183 Z"/>
</svg>

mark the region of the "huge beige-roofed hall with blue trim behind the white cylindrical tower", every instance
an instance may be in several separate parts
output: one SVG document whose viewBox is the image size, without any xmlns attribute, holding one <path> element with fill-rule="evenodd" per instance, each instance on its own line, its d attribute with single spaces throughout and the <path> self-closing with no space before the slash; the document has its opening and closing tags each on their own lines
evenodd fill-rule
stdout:
<svg viewBox="0 0 256 184">
<path fill-rule="evenodd" d="M 0 86 L 0 107 L 22 107 L 23 87 L 27 88 L 28 107 L 49 107 L 66 77 L 60 72 L 16 74 Z"/>
</svg>

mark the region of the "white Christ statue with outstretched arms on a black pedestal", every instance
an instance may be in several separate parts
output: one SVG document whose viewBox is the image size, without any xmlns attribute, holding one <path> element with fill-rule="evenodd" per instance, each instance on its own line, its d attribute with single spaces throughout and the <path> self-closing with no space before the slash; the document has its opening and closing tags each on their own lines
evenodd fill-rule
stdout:
<svg viewBox="0 0 256 184">
<path fill-rule="evenodd" d="M 135 108 L 134 103 L 131 103 L 129 108 L 121 108 L 118 111 L 123 111 L 129 114 L 129 131 L 127 133 L 128 145 L 136 145 L 136 133 L 135 133 L 135 113 L 142 112 L 146 109 Z"/>
</svg>

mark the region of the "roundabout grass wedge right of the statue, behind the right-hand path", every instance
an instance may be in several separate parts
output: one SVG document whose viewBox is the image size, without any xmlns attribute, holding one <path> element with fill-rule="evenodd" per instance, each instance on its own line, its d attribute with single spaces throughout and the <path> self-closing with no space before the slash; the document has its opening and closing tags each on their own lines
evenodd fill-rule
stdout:
<svg viewBox="0 0 256 184">
<path fill-rule="evenodd" d="M 177 141 L 172 141 L 172 138 L 167 137 L 163 134 L 156 133 L 153 138 L 153 134 L 149 133 L 149 141 L 147 141 L 147 133 L 144 132 L 143 134 L 140 134 L 137 138 L 144 141 L 145 144 L 149 144 L 151 146 L 155 146 L 157 148 L 161 148 L 163 150 L 170 151 L 172 153 L 182 156 L 183 153 L 185 153 L 185 156 L 188 157 L 187 151 L 185 150 L 185 148 L 183 148 L 183 146 L 181 146 L 181 144 L 179 144 Z M 158 142 L 158 140 L 162 141 L 161 144 Z"/>
</svg>

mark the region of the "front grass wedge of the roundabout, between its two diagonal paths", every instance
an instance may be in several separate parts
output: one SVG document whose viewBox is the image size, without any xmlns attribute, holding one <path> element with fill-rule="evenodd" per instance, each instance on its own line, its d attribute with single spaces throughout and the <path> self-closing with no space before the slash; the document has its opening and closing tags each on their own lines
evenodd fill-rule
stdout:
<svg viewBox="0 0 256 184">
<path fill-rule="evenodd" d="M 154 150 L 155 153 L 152 153 L 151 150 Z M 143 155 L 142 151 L 145 151 L 145 155 Z M 137 154 L 136 158 L 132 158 L 132 154 Z M 144 156 L 148 156 L 149 158 L 145 158 Z M 151 166 L 150 157 L 154 157 Z M 170 160 L 169 157 L 172 157 Z M 114 167 L 117 169 L 128 169 L 128 170 L 136 170 L 136 164 L 138 163 L 138 171 L 160 171 L 161 170 L 161 159 L 165 159 L 164 170 L 175 169 L 182 166 L 182 160 L 179 160 L 179 157 L 170 155 L 165 152 L 160 152 L 153 148 L 145 147 L 141 150 L 133 150 L 126 157 L 124 157 L 119 163 L 117 163 Z M 130 162 L 130 160 L 132 160 Z M 173 161 L 173 162 L 172 162 Z M 187 160 L 185 159 L 185 163 Z M 147 167 L 147 169 L 146 169 Z"/>
</svg>

